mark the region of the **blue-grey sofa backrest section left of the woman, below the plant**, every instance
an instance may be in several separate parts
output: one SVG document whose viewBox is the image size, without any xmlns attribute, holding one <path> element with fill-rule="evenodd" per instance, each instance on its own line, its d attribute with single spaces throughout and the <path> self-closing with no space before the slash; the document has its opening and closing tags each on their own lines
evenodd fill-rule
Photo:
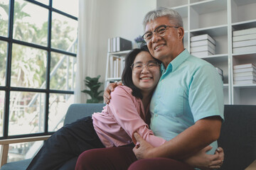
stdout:
<svg viewBox="0 0 256 170">
<path fill-rule="evenodd" d="M 67 114 L 65 115 L 64 125 L 68 123 L 73 123 L 75 120 L 84 118 L 92 115 L 95 112 L 101 112 L 105 103 L 86 103 L 80 104 L 75 103 L 70 105 Z"/>
</svg>

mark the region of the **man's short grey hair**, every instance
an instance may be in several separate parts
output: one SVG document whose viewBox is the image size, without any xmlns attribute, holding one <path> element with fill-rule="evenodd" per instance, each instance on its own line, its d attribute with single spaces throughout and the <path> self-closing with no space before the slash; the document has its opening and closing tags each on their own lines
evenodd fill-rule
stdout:
<svg viewBox="0 0 256 170">
<path fill-rule="evenodd" d="M 150 21 L 154 21 L 156 18 L 159 18 L 162 16 L 167 16 L 169 18 L 169 21 L 176 21 L 176 24 L 178 25 L 178 27 L 183 27 L 183 21 L 182 21 L 181 15 L 177 11 L 174 11 L 173 9 L 170 9 L 170 8 L 159 7 L 153 11 L 149 11 L 148 13 L 146 13 L 146 16 L 144 17 L 144 20 L 143 20 L 144 30 L 146 28 L 146 23 L 149 23 Z"/>
</svg>

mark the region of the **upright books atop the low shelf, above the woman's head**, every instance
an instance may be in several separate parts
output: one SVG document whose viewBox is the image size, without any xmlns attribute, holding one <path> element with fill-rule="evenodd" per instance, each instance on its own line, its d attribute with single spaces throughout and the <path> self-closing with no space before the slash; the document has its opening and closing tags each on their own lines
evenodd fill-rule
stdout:
<svg viewBox="0 0 256 170">
<path fill-rule="evenodd" d="M 132 41 L 116 37 L 107 39 L 107 52 L 132 50 Z"/>
</svg>

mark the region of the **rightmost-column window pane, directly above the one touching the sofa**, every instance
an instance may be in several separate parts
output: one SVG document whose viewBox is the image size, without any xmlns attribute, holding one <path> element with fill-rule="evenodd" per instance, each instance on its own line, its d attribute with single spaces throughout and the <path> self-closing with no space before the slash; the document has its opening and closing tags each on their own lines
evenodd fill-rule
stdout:
<svg viewBox="0 0 256 170">
<path fill-rule="evenodd" d="M 52 52 L 50 57 L 50 89 L 73 91 L 76 58 Z"/>
</svg>

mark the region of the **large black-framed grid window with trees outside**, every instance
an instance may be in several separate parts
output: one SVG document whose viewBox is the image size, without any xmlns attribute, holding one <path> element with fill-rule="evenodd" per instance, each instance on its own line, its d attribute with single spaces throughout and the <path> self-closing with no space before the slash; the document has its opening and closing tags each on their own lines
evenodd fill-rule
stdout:
<svg viewBox="0 0 256 170">
<path fill-rule="evenodd" d="M 78 0 L 0 0 L 0 140 L 63 126 L 74 97 L 77 35 Z M 33 145 L 11 145 L 9 153 L 28 158 Z"/>
</svg>

